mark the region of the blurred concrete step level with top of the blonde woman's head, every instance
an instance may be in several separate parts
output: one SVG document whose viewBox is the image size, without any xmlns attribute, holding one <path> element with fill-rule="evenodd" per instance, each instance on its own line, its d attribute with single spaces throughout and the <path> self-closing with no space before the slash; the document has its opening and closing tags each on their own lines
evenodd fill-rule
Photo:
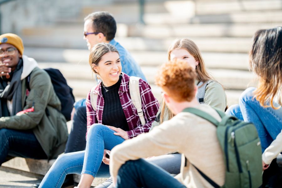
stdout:
<svg viewBox="0 0 282 188">
<path fill-rule="evenodd" d="M 191 37 L 202 52 L 247 53 L 251 38 Z M 142 37 L 118 37 L 116 40 L 129 51 L 166 51 L 175 38 L 153 39 Z M 86 42 L 79 36 L 24 36 L 26 47 L 87 49 Z"/>
</svg>

